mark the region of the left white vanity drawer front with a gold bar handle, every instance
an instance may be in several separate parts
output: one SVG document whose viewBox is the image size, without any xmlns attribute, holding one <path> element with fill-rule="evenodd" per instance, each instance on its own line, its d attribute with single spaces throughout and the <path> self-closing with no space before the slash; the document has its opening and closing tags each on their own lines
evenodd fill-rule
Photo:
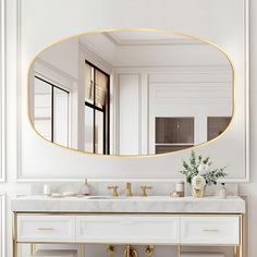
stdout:
<svg viewBox="0 0 257 257">
<path fill-rule="evenodd" d="M 74 242 L 75 218 L 71 216 L 19 216 L 19 242 Z"/>
</svg>

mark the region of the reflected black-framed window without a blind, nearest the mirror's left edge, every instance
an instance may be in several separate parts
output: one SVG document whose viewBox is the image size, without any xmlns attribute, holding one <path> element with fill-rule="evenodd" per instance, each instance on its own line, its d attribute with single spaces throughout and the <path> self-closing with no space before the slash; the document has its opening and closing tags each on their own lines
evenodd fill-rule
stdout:
<svg viewBox="0 0 257 257">
<path fill-rule="evenodd" d="M 69 146 L 69 91 L 40 76 L 35 76 L 34 125 L 52 143 Z"/>
</svg>

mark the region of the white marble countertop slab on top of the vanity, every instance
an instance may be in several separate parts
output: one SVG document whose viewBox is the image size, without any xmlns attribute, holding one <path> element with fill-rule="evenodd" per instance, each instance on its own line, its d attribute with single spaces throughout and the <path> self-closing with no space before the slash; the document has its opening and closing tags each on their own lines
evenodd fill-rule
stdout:
<svg viewBox="0 0 257 257">
<path fill-rule="evenodd" d="M 63 197 L 17 196 L 11 203 L 15 212 L 135 212 L 135 213 L 244 213 L 245 201 L 238 196 L 218 197 L 169 196 L 120 197 L 107 196 Z"/>
</svg>

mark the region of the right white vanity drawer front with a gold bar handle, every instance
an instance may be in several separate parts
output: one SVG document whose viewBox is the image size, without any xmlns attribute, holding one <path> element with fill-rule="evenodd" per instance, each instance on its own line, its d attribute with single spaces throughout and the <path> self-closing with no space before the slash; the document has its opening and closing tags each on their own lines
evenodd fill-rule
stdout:
<svg viewBox="0 0 257 257">
<path fill-rule="evenodd" d="M 238 217 L 182 217 L 182 244 L 238 244 Z"/>
</svg>

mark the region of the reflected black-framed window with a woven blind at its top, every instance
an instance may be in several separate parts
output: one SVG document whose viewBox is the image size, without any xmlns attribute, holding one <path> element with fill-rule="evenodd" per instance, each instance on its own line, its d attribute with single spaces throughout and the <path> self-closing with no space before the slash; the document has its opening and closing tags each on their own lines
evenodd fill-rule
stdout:
<svg viewBox="0 0 257 257">
<path fill-rule="evenodd" d="M 85 151 L 109 154 L 110 76 L 86 61 Z"/>
</svg>

